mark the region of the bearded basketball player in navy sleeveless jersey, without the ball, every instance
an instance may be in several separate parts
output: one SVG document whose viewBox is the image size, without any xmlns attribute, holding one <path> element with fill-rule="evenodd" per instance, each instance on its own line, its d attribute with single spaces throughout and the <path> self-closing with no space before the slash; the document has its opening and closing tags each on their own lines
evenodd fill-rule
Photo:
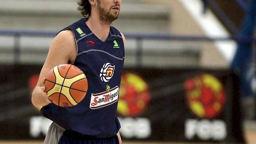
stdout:
<svg viewBox="0 0 256 144">
<path fill-rule="evenodd" d="M 32 93 L 32 104 L 53 121 L 44 144 L 118 144 L 120 123 L 116 116 L 125 37 L 111 22 L 117 19 L 122 0 L 79 0 L 83 19 L 67 26 L 54 38 Z M 45 77 L 56 65 L 79 67 L 88 80 L 85 98 L 63 108 L 51 103 Z M 93 96 L 97 95 L 97 98 Z M 104 100 L 104 94 L 113 94 Z"/>
</svg>

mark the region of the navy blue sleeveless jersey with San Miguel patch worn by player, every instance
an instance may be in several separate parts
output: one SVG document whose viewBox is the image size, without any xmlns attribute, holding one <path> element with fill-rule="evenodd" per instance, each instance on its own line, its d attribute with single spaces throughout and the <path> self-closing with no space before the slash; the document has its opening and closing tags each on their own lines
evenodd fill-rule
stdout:
<svg viewBox="0 0 256 144">
<path fill-rule="evenodd" d="M 43 106 L 41 114 L 61 127 L 82 135 L 111 137 L 120 129 L 116 111 L 124 65 L 124 43 L 120 32 L 114 27 L 110 27 L 109 35 L 103 42 L 85 22 L 86 19 L 80 19 L 63 30 L 71 29 L 74 33 L 78 49 L 74 65 L 84 72 L 88 80 L 86 96 L 70 108 L 48 104 Z"/>
</svg>

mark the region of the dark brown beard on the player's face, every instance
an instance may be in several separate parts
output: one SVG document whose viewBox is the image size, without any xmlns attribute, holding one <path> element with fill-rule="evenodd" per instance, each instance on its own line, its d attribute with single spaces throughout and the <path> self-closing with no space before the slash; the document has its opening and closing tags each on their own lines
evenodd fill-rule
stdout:
<svg viewBox="0 0 256 144">
<path fill-rule="evenodd" d="M 100 0 L 97 0 L 97 1 L 99 3 L 97 6 L 97 9 L 99 11 L 99 20 L 100 20 L 100 22 L 102 22 L 102 24 L 111 24 L 114 20 L 116 20 L 118 18 L 119 12 L 112 14 L 110 12 L 112 7 L 109 9 L 109 11 L 106 11 L 101 6 Z M 119 6 L 119 4 L 116 4 L 115 6 Z"/>
</svg>

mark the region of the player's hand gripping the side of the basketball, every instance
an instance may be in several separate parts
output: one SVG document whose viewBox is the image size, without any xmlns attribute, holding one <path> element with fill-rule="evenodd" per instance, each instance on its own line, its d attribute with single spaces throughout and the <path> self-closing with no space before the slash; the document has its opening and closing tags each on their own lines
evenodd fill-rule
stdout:
<svg viewBox="0 0 256 144">
<path fill-rule="evenodd" d="M 42 78 L 41 85 L 36 86 L 33 90 L 31 101 L 35 107 L 46 106 L 51 103 L 51 100 L 47 97 L 47 93 L 45 92 L 45 78 Z"/>
</svg>

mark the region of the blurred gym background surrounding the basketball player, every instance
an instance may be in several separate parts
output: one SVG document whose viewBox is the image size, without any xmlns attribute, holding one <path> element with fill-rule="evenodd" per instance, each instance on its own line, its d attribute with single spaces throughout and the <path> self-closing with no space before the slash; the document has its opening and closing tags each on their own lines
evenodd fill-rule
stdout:
<svg viewBox="0 0 256 144">
<path fill-rule="evenodd" d="M 0 0 L 0 143 L 42 143 L 30 102 L 76 0 Z M 255 0 L 122 0 L 124 143 L 256 143 Z M 36 141 L 36 142 L 35 142 Z"/>
</svg>

